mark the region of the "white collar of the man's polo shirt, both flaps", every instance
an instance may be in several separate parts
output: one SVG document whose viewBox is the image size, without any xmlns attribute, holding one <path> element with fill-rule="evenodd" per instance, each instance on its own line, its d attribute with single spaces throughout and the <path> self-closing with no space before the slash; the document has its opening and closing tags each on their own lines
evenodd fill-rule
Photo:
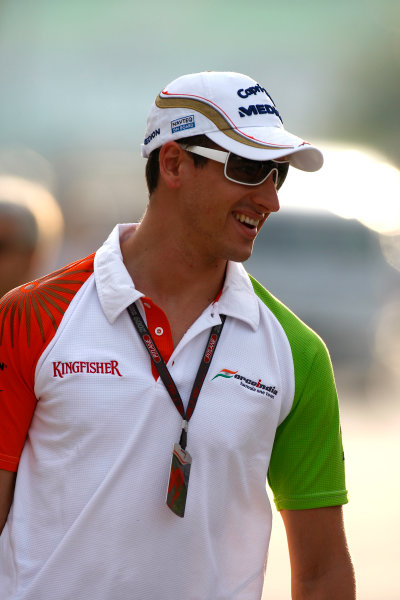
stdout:
<svg viewBox="0 0 400 600">
<path fill-rule="evenodd" d="M 122 259 L 120 240 L 138 224 L 116 225 L 94 258 L 94 276 L 100 304 L 110 323 L 144 296 L 135 288 Z M 214 303 L 220 314 L 244 321 L 257 329 L 260 314 L 249 276 L 241 263 L 228 262 L 221 297 Z"/>
</svg>

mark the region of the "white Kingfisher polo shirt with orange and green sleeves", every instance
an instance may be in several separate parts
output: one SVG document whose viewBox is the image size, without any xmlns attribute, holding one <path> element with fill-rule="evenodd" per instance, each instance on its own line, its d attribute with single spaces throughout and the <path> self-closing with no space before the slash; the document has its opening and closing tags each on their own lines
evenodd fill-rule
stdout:
<svg viewBox="0 0 400 600">
<path fill-rule="evenodd" d="M 134 227 L 116 227 L 94 263 L 0 304 L 0 467 L 15 470 L 23 447 L 0 537 L 3 600 L 256 600 L 271 531 L 267 472 L 279 509 L 347 501 L 326 349 L 229 263 L 219 300 L 167 364 L 186 405 L 210 329 L 227 315 L 189 423 L 185 516 L 169 510 L 181 417 L 126 310 L 143 297 L 119 245 Z M 162 346 L 162 311 L 138 306 Z"/>
</svg>

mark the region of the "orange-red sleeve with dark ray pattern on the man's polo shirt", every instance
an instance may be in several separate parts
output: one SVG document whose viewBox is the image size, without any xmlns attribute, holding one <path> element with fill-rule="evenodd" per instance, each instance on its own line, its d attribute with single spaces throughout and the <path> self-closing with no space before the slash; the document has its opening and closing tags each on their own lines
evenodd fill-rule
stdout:
<svg viewBox="0 0 400 600">
<path fill-rule="evenodd" d="M 0 469 L 16 471 L 36 407 L 36 364 L 94 255 L 15 288 L 0 301 Z"/>
</svg>

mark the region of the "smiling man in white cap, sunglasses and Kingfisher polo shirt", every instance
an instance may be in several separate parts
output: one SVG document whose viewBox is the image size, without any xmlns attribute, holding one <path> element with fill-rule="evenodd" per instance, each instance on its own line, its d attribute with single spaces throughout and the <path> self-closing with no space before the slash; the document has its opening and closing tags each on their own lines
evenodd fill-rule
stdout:
<svg viewBox="0 0 400 600">
<path fill-rule="evenodd" d="M 268 471 L 293 598 L 353 599 L 328 354 L 240 264 L 321 154 L 218 72 L 160 93 L 142 152 L 140 225 L 1 303 L 2 597 L 259 599 Z"/>
</svg>

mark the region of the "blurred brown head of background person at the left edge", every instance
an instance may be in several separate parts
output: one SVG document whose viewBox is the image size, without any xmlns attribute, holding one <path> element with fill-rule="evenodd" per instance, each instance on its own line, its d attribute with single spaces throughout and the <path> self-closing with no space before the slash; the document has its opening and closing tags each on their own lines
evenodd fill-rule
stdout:
<svg viewBox="0 0 400 600">
<path fill-rule="evenodd" d="M 38 237 L 29 208 L 0 199 L 0 297 L 33 277 Z"/>
</svg>

